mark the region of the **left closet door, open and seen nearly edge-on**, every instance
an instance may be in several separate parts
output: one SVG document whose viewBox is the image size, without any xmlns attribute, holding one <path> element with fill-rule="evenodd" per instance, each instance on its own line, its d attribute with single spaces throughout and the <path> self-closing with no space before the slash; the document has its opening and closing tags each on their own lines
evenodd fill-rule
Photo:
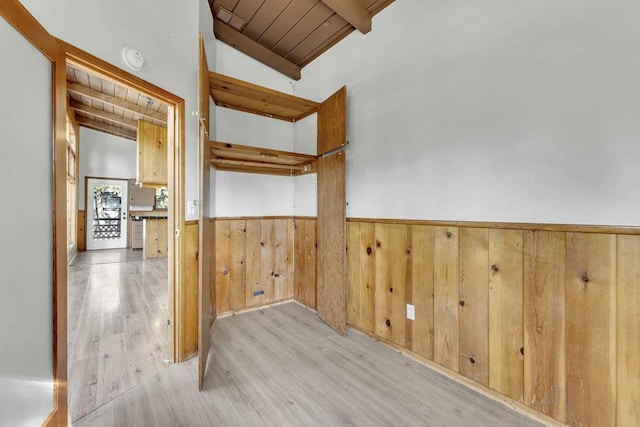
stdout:
<svg viewBox="0 0 640 427">
<path fill-rule="evenodd" d="M 198 78 L 198 101 L 200 118 L 200 144 L 199 144 L 199 169 L 200 169 L 200 214 L 199 220 L 199 273 L 198 273 L 198 389 L 204 387 L 209 356 L 210 336 L 209 332 L 213 315 L 211 303 L 211 160 L 209 154 L 209 66 L 207 54 L 204 48 L 204 40 L 200 36 L 200 60 Z"/>
</svg>

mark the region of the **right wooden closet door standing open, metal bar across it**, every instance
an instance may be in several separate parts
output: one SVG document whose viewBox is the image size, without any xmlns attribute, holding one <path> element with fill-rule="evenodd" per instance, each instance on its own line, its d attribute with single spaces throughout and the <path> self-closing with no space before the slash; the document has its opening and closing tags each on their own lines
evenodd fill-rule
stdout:
<svg viewBox="0 0 640 427">
<path fill-rule="evenodd" d="M 347 316 L 347 89 L 318 108 L 318 315 L 344 334 Z"/>
</svg>

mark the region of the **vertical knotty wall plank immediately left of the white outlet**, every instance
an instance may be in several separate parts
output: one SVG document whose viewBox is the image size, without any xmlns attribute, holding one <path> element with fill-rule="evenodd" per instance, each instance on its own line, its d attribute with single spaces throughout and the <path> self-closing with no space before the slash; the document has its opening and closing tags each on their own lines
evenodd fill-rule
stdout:
<svg viewBox="0 0 640 427">
<path fill-rule="evenodd" d="M 411 268 L 407 268 L 407 263 L 411 259 L 407 242 L 408 226 L 394 224 L 391 229 L 391 257 L 388 267 L 391 281 L 389 283 L 389 293 L 387 297 L 391 300 L 389 304 L 391 319 L 391 341 L 404 346 L 406 327 L 406 290 L 407 273 L 411 274 Z"/>
</svg>

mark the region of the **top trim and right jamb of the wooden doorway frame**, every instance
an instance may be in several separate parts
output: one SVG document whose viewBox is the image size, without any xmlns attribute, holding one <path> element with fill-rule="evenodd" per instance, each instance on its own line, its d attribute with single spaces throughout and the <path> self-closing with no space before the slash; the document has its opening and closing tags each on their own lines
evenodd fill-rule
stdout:
<svg viewBox="0 0 640 427">
<path fill-rule="evenodd" d="M 182 301 L 181 292 L 184 286 L 182 269 L 180 266 L 186 258 L 184 229 L 185 229 L 185 204 L 184 204 L 184 146 L 185 146 L 185 101 L 152 83 L 149 83 L 131 73 L 97 58 L 69 43 L 56 39 L 65 53 L 66 63 L 76 68 L 97 74 L 117 84 L 127 86 L 133 90 L 145 93 L 168 106 L 168 153 L 167 160 L 169 179 L 168 191 L 171 195 L 167 217 L 172 239 L 168 239 L 168 297 L 169 297 L 169 322 L 172 340 L 169 340 L 169 360 L 181 362 L 184 351 L 181 348 L 181 319 Z M 66 82 L 65 82 L 66 91 Z M 85 206 L 86 212 L 86 206 Z M 86 233 L 86 230 L 85 230 Z"/>
</svg>

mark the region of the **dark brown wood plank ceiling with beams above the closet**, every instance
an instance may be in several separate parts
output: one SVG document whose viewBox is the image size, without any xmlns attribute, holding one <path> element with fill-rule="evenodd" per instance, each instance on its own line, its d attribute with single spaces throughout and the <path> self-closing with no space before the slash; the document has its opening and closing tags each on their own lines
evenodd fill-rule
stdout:
<svg viewBox="0 0 640 427">
<path fill-rule="evenodd" d="M 300 70 L 393 0 L 209 0 L 218 40 L 299 80 Z"/>
</svg>

